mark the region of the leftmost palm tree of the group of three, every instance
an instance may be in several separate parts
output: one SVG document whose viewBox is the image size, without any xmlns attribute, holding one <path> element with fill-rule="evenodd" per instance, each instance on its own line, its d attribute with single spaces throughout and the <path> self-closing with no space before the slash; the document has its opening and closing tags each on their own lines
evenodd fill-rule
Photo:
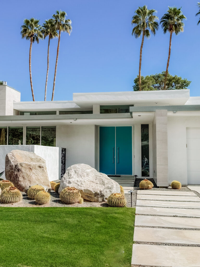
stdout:
<svg viewBox="0 0 200 267">
<path fill-rule="evenodd" d="M 26 38 L 26 40 L 30 40 L 30 49 L 29 49 L 29 72 L 30 72 L 30 83 L 31 83 L 31 92 L 33 96 L 33 101 L 35 101 L 34 93 L 33 93 L 33 83 L 32 83 L 32 75 L 31 75 L 31 50 L 32 44 L 36 41 L 39 43 L 39 39 L 43 38 L 43 34 L 41 32 L 42 28 L 38 24 L 38 19 L 25 19 L 24 24 L 21 26 L 21 35 L 22 39 Z"/>
</svg>

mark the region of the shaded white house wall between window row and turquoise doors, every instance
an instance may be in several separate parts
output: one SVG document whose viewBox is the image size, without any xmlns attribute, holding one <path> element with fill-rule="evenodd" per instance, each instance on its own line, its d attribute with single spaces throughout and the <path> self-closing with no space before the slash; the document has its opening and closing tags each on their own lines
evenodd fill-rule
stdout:
<svg viewBox="0 0 200 267">
<path fill-rule="evenodd" d="M 58 125 L 56 144 L 66 148 L 66 168 L 77 163 L 95 168 L 95 125 Z"/>
</svg>

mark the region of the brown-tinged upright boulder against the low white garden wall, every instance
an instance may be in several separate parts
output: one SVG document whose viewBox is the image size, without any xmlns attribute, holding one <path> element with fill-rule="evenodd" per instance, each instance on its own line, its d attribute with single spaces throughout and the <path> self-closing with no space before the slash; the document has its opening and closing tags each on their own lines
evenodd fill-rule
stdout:
<svg viewBox="0 0 200 267">
<path fill-rule="evenodd" d="M 20 191 L 27 193 L 32 185 L 47 186 L 51 184 L 46 168 L 46 161 L 33 152 L 12 150 L 6 155 L 5 176 Z"/>
</svg>

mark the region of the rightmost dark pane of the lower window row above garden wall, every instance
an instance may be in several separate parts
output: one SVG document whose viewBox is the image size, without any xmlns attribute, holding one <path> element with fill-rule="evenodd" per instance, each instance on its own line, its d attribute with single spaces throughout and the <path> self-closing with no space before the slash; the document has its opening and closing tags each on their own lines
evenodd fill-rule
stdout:
<svg viewBox="0 0 200 267">
<path fill-rule="evenodd" d="M 42 127 L 41 130 L 41 145 L 55 147 L 56 127 Z"/>
</svg>

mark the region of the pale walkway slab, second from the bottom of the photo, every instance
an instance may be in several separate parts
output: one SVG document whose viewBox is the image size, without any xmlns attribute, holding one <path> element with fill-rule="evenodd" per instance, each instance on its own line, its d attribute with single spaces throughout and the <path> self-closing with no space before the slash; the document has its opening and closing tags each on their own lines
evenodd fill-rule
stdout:
<svg viewBox="0 0 200 267">
<path fill-rule="evenodd" d="M 200 231 L 135 227 L 133 241 L 172 244 L 200 244 Z"/>
</svg>

